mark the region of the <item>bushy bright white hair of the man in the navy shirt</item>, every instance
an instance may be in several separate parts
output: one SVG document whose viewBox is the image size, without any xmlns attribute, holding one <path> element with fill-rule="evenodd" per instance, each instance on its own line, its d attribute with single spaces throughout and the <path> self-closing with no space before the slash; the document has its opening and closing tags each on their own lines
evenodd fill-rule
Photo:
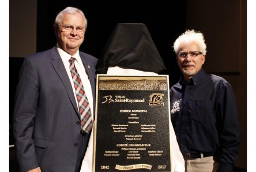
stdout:
<svg viewBox="0 0 256 172">
<path fill-rule="evenodd" d="M 195 30 L 186 30 L 185 33 L 182 33 L 174 42 L 174 51 L 179 53 L 180 45 L 184 42 L 196 42 L 199 45 L 199 48 L 203 55 L 206 54 L 206 44 L 204 35 L 201 32 L 195 32 Z"/>
</svg>

